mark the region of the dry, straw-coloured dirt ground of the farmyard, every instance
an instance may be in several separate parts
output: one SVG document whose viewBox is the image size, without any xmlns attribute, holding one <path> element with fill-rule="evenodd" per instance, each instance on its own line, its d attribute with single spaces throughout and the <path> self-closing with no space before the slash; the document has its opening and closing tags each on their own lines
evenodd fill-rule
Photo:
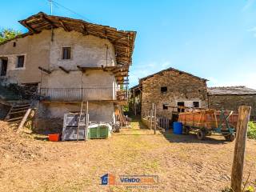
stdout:
<svg viewBox="0 0 256 192">
<path fill-rule="evenodd" d="M 48 142 L 0 123 L 0 191 L 221 191 L 230 186 L 234 142 L 162 134 L 134 121 L 111 138 Z M 256 186 L 256 141 L 246 143 L 244 177 Z M 146 188 L 102 186 L 103 174 L 158 175 Z"/>
</svg>

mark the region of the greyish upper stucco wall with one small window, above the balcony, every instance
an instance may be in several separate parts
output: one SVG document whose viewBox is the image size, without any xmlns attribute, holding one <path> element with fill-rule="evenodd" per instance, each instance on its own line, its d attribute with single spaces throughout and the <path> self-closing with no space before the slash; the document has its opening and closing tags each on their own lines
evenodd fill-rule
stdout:
<svg viewBox="0 0 256 192">
<path fill-rule="evenodd" d="M 62 47 L 71 47 L 71 59 L 62 59 Z M 54 30 L 50 46 L 50 70 L 63 66 L 78 70 L 77 66 L 116 66 L 114 46 L 109 40 L 83 35 L 76 31 Z"/>
</svg>

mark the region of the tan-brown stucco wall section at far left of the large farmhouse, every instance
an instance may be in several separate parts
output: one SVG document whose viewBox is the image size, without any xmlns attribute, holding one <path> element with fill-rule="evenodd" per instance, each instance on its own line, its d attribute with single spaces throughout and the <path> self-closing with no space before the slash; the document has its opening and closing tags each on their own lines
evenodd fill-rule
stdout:
<svg viewBox="0 0 256 192">
<path fill-rule="evenodd" d="M 25 55 L 23 68 L 15 68 L 18 55 Z M 38 66 L 48 68 L 50 62 L 50 30 L 2 44 L 0 58 L 2 57 L 8 58 L 8 64 L 6 77 L 0 77 L 1 82 L 39 82 L 41 72 Z"/>
</svg>

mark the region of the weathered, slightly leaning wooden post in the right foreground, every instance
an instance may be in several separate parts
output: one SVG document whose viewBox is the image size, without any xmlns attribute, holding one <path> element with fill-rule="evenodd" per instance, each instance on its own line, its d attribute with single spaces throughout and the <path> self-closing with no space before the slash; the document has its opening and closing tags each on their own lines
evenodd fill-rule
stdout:
<svg viewBox="0 0 256 192">
<path fill-rule="evenodd" d="M 242 170 L 246 149 L 247 126 L 250 119 L 250 106 L 239 106 L 238 126 L 234 146 L 234 159 L 231 174 L 231 189 L 234 192 L 242 190 Z"/>
</svg>

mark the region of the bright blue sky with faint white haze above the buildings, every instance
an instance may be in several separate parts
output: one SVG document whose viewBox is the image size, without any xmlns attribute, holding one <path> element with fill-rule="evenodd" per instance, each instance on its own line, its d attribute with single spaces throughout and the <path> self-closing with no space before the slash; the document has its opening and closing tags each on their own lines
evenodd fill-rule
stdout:
<svg viewBox="0 0 256 192">
<path fill-rule="evenodd" d="M 256 89 L 256 0 L 56 0 L 54 14 L 138 32 L 130 86 L 167 67 L 210 80 L 209 86 Z M 18 20 L 47 0 L 1 2 L 0 27 L 26 31 Z"/>
</svg>

